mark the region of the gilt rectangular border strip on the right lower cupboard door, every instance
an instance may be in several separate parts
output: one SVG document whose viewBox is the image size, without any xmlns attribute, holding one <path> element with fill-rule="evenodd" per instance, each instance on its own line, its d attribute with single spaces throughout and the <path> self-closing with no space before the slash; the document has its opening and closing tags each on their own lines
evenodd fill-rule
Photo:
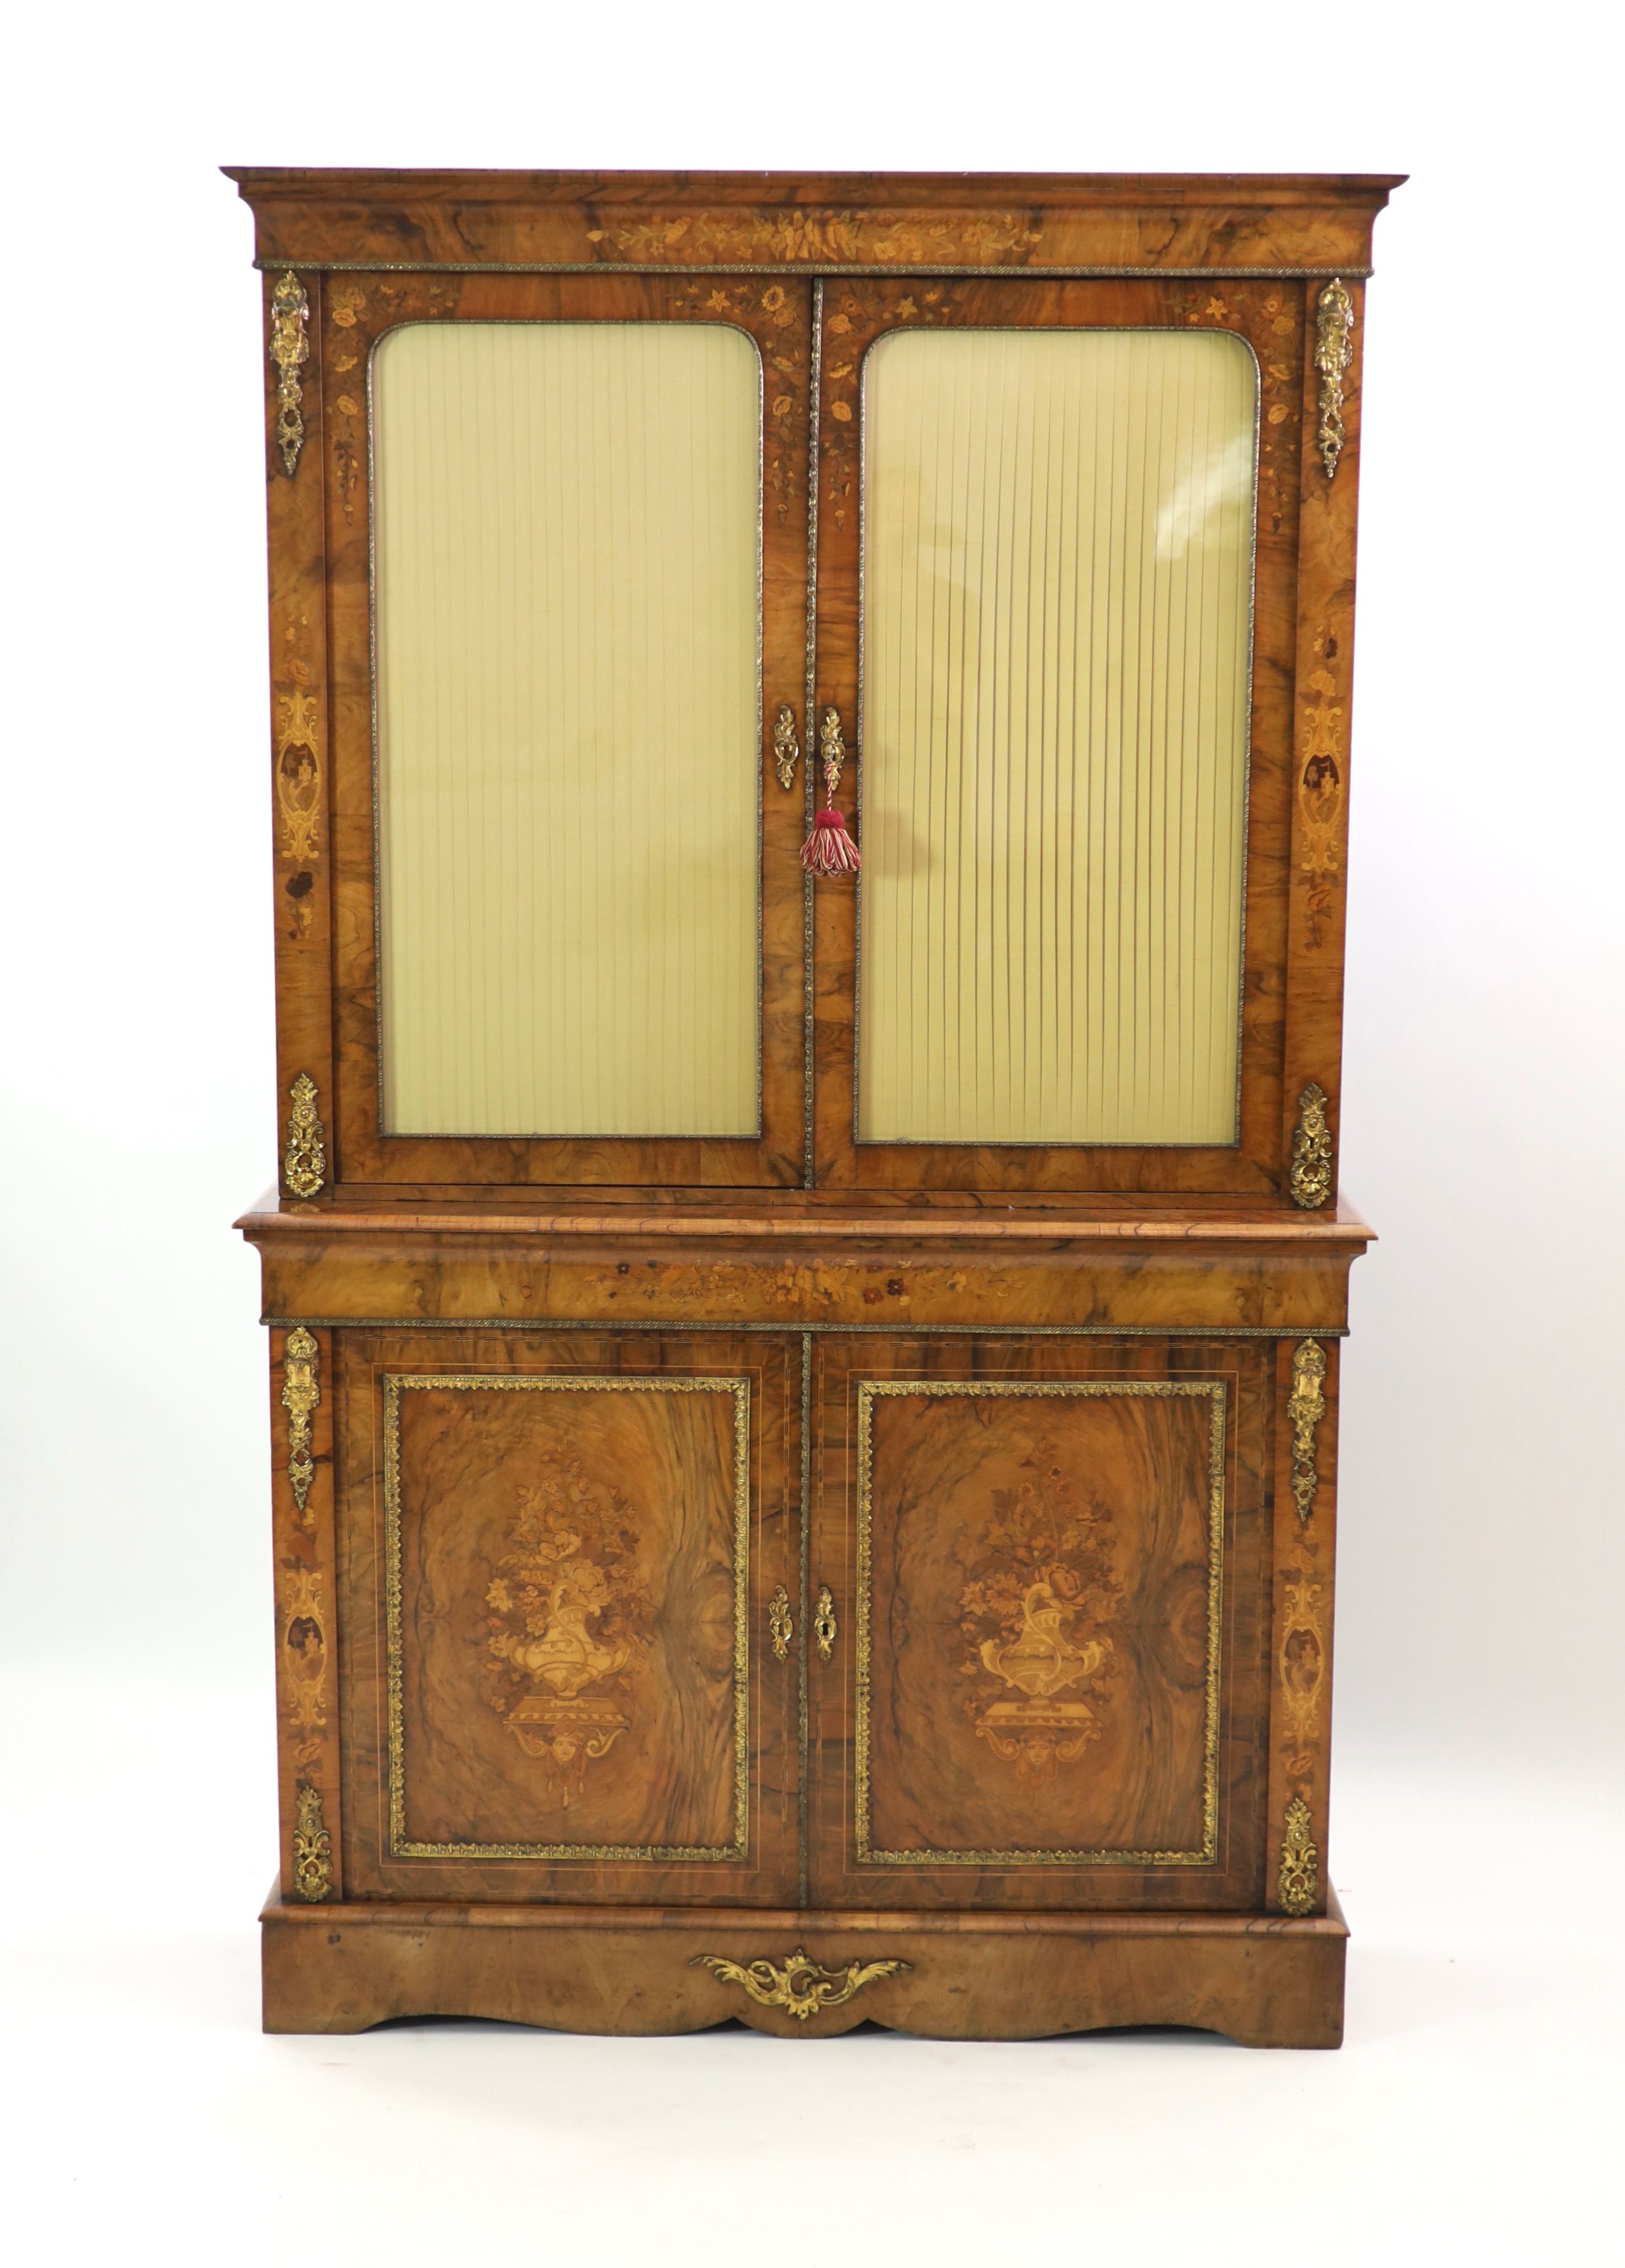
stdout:
<svg viewBox="0 0 1625 2268">
<path fill-rule="evenodd" d="M 1208 1669 L 1201 1771 L 1201 1844 L 1194 1851 L 877 1851 L 868 1839 L 868 1687 L 870 1687 L 870 1524 L 875 1481 L 875 1399 L 916 1395 L 931 1399 L 1006 1395 L 1027 1399 L 1120 1395 L 1142 1402 L 1206 1397 L 1208 1411 Z M 1213 1867 L 1219 1857 L 1219 1649 L 1224 1603 L 1224 1381 L 1117 1381 L 1117 1379 L 999 1379 L 999 1381 L 857 1381 L 857 1737 L 854 1814 L 859 1867 Z"/>
</svg>

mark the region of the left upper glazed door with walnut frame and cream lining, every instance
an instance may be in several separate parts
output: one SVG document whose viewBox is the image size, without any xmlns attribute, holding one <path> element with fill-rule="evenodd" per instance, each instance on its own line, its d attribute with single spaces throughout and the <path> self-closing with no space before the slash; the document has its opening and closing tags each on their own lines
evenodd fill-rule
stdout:
<svg viewBox="0 0 1625 2268">
<path fill-rule="evenodd" d="M 340 1186 L 800 1182 L 809 311 L 324 281 Z"/>
</svg>

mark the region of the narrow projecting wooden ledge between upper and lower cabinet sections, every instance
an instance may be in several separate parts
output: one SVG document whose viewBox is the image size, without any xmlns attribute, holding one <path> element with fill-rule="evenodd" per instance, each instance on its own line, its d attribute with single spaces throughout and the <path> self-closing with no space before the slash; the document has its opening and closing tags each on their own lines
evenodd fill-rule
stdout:
<svg viewBox="0 0 1625 2268">
<path fill-rule="evenodd" d="M 1333 1213 L 1287 1213 L 1249 1209 L 1149 1207 L 1124 1200 L 1120 1207 L 1081 1202 L 1047 1204 L 863 1204 L 807 1200 L 800 1195 L 757 1198 L 752 1193 L 718 1195 L 712 1204 L 650 1204 L 637 1193 L 623 1204 L 601 1200 L 551 1202 L 524 1209 L 512 1191 L 490 1198 L 442 1200 L 424 1195 L 376 1198 L 365 1204 L 299 1202 L 267 1188 L 258 1204 L 233 1222 L 254 1245 L 279 1238 L 329 1236 L 478 1236 L 478 1238 L 657 1238 L 662 1243 L 820 1243 L 820 1245 L 959 1245 L 1024 1243 L 1122 1250 L 1124 1245 L 1208 1245 L 1271 1247 L 1276 1252 L 1337 1250 L 1351 1256 L 1364 1252 L 1376 1234 L 1353 1207 L 1339 1198 Z"/>
</svg>

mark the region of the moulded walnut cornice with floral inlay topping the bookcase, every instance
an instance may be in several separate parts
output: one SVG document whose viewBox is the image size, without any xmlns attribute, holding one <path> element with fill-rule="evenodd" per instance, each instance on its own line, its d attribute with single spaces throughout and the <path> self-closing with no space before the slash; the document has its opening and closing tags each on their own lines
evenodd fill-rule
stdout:
<svg viewBox="0 0 1625 2268">
<path fill-rule="evenodd" d="M 1405 175 L 478 172 L 224 166 L 301 268 L 1369 272 Z"/>
</svg>

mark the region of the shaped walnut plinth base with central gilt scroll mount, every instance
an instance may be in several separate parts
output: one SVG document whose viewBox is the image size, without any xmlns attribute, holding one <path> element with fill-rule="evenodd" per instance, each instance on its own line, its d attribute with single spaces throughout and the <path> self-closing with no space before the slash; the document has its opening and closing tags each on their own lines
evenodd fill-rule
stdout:
<svg viewBox="0 0 1625 2268">
<path fill-rule="evenodd" d="M 1192 2025 L 1335 2048 L 1349 1928 L 1281 1914 L 918 1914 L 771 1907 L 283 1905 L 261 1914 L 267 2032 L 494 2016 L 555 2032 L 782 2039 L 873 2019 L 925 2039 Z M 870 1973 L 863 1973 L 870 1971 Z"/>
</svg>

